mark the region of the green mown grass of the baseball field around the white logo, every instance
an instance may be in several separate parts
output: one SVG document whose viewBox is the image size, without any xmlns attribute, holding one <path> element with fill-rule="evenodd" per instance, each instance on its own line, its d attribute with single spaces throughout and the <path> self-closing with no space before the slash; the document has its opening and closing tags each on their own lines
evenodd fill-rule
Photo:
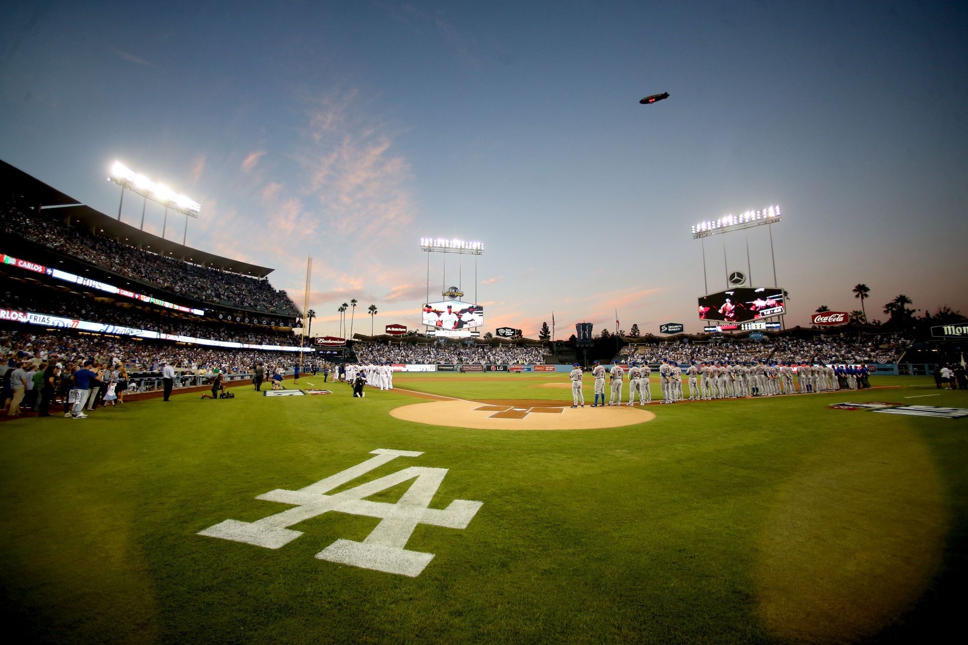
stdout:
<svg viewBox="0 0 968 645">
<path fill-rule="evenodd" d="M 394 381 L 472 400 L 570 397 L 534 386 L 564 374 L 470 376 Z M 968 418 L 827 406 L 968 408 L 968 392 L 872 383 L 901 387 L 653 405 L 653 421 L 601 430 L 411 423 L 388 411 L 426 399 L 353 399 L 345 384 L 4 422 L 6 625 L 57 643 L 937 641 L 962 606 Z M 315 557 L 365 539 L 373 517 L 318 515 L 279 549 L 197 535 L 281 512 L 256 497 L 376 448 L 423 454 L 339 490 L 433 467 L 449 470 L 431 507 L 483 503 L 466 529 L 417 526 L 407 548 L 435 557 L 416 577 Z M 395 502 L 410 483 L 370 499 Z"/>
</svg>

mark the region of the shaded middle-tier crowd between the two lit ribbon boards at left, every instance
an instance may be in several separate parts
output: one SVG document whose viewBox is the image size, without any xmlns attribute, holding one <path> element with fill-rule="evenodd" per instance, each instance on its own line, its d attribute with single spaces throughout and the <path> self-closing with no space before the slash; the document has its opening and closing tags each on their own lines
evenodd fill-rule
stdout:
<svg viewBox="0 0 968 645">
<path fill-rule="evenodd" d="M 241 323 L 224 323 L 197 316 L 176 316 L 168 310 L 142 310 L 128 303 L 116 304 L 70 292 L 51 290 L 9 289 L 0 293 L 0 307 L 63 318 L 136 327 L 166 334 L 179 334 L 208 340 L 231 341 L 250 345 L 298 346 L 299 338 L 291 331 Z"/>
</svg>

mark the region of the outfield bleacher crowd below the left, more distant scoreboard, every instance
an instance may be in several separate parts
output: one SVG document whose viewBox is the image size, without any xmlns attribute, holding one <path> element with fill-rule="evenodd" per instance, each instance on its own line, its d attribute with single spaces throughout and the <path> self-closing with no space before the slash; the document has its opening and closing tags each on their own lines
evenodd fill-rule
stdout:
<svg viewBox="0 0 968 645">
<path fill-rule="evenodd" d="M 363 363 L 403 363 L 426 365 L 462 363 L 465 365 L 535 365 L 544 362 L 545 349 L 537 345 L 456 345 L 417 343 L 355 344 L 356 357 Z"/>
</svg>

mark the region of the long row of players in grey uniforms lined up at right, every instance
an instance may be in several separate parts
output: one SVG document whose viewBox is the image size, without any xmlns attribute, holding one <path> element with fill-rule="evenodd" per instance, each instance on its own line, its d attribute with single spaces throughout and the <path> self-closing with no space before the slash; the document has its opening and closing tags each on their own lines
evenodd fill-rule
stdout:
<svg viewBox="0 0 968 645">
<path fill-rule="evenodd" d="M 582 392 L 584 373 L 578 363 L 574 364 L 568 375 L 571 379 L 572 408 L 585 407 L 585 394 Z M 794 368 L 796 367 L 796 372 Z M 865 365 L 794 365 L 792 363 L 768 363 L 754 360 L 749 363 L 730 363 L 729 361 L 691 361 L 685 369 L 689 384 L 689 397 L 682 391 L 682 369 L 679 363 L 662 359 L 658 368 L 659 384 L 662 386 L 662 403 L 677 401 L 710 401 L 746 396 L 775 396 L 777 394 L 812 393 L 838 389 L 862 389 L 870 387 L 869 371 Z M 628 402 L 634 405 L 638 397 L 639 405 L 651 403 L 651 369 L 648 364 L 629 363 Z M 592 408 L 621 404 L 622 381 L 625 370 L 613 365 L 608 372 L 599 361 L 594 361 L 591 375 L 595 379 L 595 399 Z M 605 403 L 605 378 L 611 381 L 609 401 Z M 794 382 L 794 376 L 797 382 Z M 797 385 L 800 385 L 798 389 Z"/>
</svg>

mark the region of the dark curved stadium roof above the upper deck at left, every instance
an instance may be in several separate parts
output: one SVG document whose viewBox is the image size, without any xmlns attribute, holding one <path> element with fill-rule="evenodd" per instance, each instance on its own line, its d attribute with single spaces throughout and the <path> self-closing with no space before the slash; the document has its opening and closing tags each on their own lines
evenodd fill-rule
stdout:
<svg viewBox="0 0 968 645">
<path fill-rule="evenodd" d="M 3 187 L 4 193 L 11 191 L 25 205 L 34 207 L 39 205 L 48 214 L 58 217 L 70 216 L 83 222 L 91 229 L 102 232 L 107 237 L 121 242 L 127 242 L 132 246 L 140 247 L 159 255 L 164 255 L 166 258 L 204 264 L 205 266 L 211 266 L 224 271 L 232 271 L 233 273 L 241 273 L 242 275 L 251 275 L 257 278 L 264 278 L 274 270 L 267 266 L 259 266 L 249 262 L 232 260 L 231 258 L 206 253 L 205 251 L 193 249 L 190 246 L 184 246 L 178 242 L 164 239 L 153 233 L 138 230 L 129 224 L 119 222 L 114 217 L 80 203 L 74 198 L 47 186 L 40 179 L 4 161 L 0 161 L 0 186 Z M 172 211 L 172 215 L 174 214 L 174 211 Z M 178 218 L 180 217 L 178 215 Z"/>
</svg>

